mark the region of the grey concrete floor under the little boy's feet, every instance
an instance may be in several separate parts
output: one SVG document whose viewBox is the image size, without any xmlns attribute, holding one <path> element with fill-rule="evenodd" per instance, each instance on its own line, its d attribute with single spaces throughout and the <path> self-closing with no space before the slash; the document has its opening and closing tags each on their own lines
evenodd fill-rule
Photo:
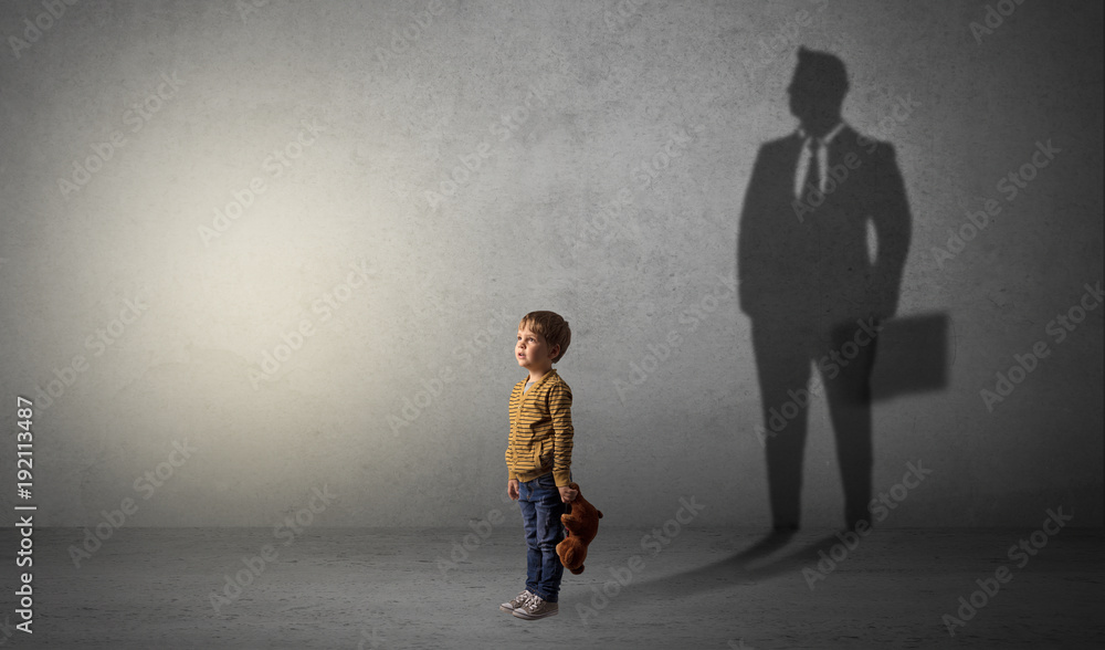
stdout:
<svg viewBox="0 0 1105 650">
<path fill-rule="evenodd" d="M 843 557 L 831 531 L 803 531 L 758 554 L 749 553 L 758 532 L 690 526 L 667 545 L 643 541 L 648 531 L 601 528 L 587 570 L 565 574 L 559 616 L 538 621 L 498 610 L 524 583 L 513 524 L 484 539 L 442 528 L 306 528 L 277 539 L 271 528 L 124 527 L 81 568 L 69 552 L 81 531 L 39 530 L 33 636 L 14 630 L 18 542 L 9 528 L 0 535 L 0 646 L 1099 648 L 1105 639 L 1101 531 L 1064 528 L 1019 567 L 1007 551 L 1031 531 L 876 530 Z M 248 576 L 243 558 L 261 567 L 266 544 L 275 558 L 267 553 L 260 575 Z M 444 565 L 454 552 L 459 562 Z M 843 558 L 811 589 L 819 552 Z M 953 638 L 943 615 L 957 616 L 959 597 L 1001 565 L 1011 579 L 991 581 L 998 591 Z M 217 612 L 211 595 L 240 569 L 251 584 Z M 627 586 L 615 589 L 615 576 Z"/>
</svg>

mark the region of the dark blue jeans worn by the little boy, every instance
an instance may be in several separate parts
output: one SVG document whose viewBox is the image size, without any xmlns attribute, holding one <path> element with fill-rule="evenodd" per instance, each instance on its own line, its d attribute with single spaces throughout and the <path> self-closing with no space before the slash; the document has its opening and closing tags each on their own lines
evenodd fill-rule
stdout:
<svg viewBox="0 0 1105 650">
<path fill-rule="evenodd" d="M 518 483 L 518 505 L 526 530 L 526 589 L 543 600 L 557 601 L 564 565 L 556 554 L 556 545 L 564 539 L 560 515 L 567 504 L 560 501 L 560 491 L 551 472 L 533 481 Z"/>
</svg>

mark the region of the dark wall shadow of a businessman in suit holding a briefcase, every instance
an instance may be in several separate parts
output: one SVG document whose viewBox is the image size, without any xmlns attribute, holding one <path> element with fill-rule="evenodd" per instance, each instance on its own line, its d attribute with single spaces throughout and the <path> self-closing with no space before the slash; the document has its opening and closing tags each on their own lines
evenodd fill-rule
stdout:
<svg viewBox="0 0 1105 650">
<path fill-rule="evenodd" d="M 894 147 L 842 119 L 846 92 L 839 57 L 799 50 L 788 94 L 800 128 L 760 147 L 740 213 L 740 307 L 778 532 L 800 525 L 814 400 L 829 407 L 854 526 L 870 520 L 872 402 L 947 385 L 946 315 L 894 317 L 912 234 L 905 184 Z"/>
</svg>

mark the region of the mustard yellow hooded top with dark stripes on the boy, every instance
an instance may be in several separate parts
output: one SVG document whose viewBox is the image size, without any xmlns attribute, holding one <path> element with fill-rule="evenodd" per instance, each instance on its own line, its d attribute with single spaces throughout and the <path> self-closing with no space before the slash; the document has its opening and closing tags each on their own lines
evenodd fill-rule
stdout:
<svg viewBox="0 0 1105 650">
<path fill-rule="evenodd" d="M 570 482 L 571 388 L 549 370 L 529 390 L 525 379 L 511 392 L 511 437 L 506 445 L 507 476 L 532 481 L 552 472 L 556 484 Z"/>
</svg>

